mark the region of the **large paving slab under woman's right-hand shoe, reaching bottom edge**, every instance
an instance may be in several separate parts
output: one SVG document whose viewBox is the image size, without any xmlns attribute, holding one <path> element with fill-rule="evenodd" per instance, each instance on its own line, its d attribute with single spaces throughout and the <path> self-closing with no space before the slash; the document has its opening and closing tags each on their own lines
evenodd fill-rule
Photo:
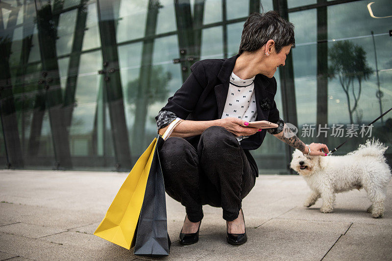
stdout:
<svg viewBox="0 0 392 261">
<path fill-rule="evenodd" d="M 350 223 L 272 219 L 257 229 L 246 230 L 248 241 L 241 246 L 226 242 L 222 232 L 211 231 L 190 247 L 219 250 L 205 260 L 321 260 Z"/>
</svg>

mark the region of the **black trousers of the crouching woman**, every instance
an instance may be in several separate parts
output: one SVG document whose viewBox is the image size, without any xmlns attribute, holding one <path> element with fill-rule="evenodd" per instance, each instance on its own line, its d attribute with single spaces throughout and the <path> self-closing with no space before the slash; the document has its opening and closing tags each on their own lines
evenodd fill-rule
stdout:
<svg viewBox="0 0 392 261">
<path fill-rule="evenodd" d="M 221 207 L 223 219 L 238 217 L 254 187 L 257 166 L 249 151 L 220 126 L 207 128 L 198 144 L 170 137 L 159 150 L 166 192 L 185 206 L 188 218 L 203 218 L 202 205 Z"/>
</svg>

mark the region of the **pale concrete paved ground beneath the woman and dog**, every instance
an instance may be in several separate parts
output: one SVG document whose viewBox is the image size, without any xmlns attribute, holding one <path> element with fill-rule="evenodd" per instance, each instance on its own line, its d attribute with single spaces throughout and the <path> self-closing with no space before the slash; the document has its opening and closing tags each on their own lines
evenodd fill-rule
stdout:
<svg viewBox="0 0 392 261">
<path fill-rule="evenodd" d="M 0 260 L 142 260 L 92 235 L 127 173 L 0 170 Z M 205 206 L 199 242 L 178 244 L 184 207 L 167 197 L 169 257 L 158 260 L 392 260 L 392 183 L 387 211 L 374 219 L 364 190 L 302 207 L 300 176 L 260 175 L 243 201 L 248 241 L 225 241 L 221 209 Z"/>
</svg>

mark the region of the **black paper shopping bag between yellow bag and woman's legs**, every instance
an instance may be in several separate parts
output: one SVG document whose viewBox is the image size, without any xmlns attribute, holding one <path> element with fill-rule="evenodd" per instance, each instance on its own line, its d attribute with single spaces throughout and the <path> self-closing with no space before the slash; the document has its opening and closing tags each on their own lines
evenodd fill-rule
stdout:
<svg viewBox="0 0 392 261">
<path fill-rule="evenodd" d="M 158 137 L 136 228 L 134 254 L 138 256 L 162 257 L 168 256 L 170 251 L 165 184 L 158 156 L 158 150 L 163 142 L 162 137 Z"/>
</svg>

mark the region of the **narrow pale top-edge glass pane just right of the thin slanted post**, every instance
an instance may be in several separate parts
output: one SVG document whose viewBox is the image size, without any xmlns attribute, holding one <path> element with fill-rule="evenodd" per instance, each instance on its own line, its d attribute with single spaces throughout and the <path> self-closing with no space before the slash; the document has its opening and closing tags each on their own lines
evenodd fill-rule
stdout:
<svg viewBox="0 0 392 261">
<path fill-rule="evenodd" d="M 166 33 L 176 30 L 174 1 L 161 0 L 159 1 L 161 8 L 158 12 L 158 21 L 156 24 L 156 34 Z"/>
</svg>

